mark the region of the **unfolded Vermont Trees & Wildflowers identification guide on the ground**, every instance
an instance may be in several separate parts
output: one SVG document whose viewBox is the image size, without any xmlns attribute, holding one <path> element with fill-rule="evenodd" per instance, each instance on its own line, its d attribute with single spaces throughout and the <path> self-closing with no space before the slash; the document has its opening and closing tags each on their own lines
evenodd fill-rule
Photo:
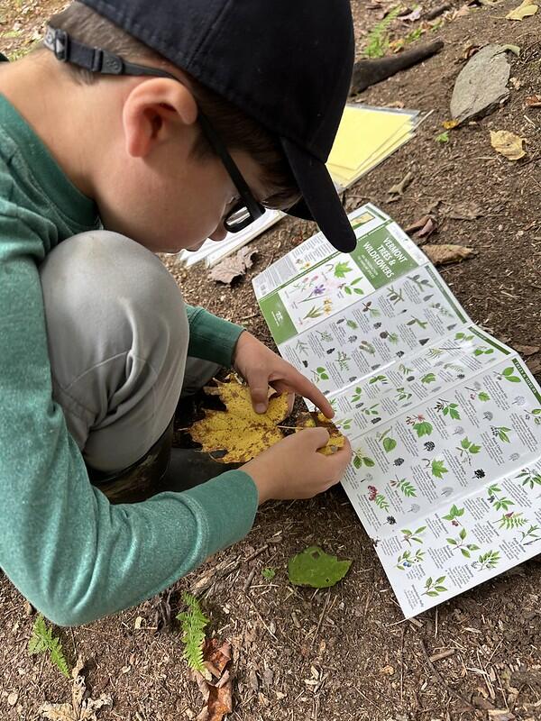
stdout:
<svg viewBox="0 0 541 721">
<path fill-rule="evenodd" d="M 541 552 L 541 388 L 373 205 L 254 278 L 284 358 L 335 408 L 343 480 L 405 616 Z"/>
</svg>

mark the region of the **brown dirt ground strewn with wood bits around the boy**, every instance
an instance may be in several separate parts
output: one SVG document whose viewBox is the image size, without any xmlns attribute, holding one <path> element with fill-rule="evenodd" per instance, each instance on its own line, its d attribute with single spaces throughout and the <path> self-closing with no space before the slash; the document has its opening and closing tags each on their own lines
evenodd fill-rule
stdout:
<svg viewBox="0 0 541 721">
<path fill-rule="evenodd" d="M 518 0 L 473 5 L 424 39 L 440 37 L 445 49 L 421 66 L 369 88 L 363 103 L 434 113 L 417 137 L 346 193 L 353 209 L 370 200 L 403 227 L 427 211 L 436 215 L 431 240 L 471 246 L 471 260 L 443 269 L 472 318 L 524 351 L 541 332 L 541 109 L 527 96 L 541 94 L 541 21 L 505 20 Z M 4 0 L 0 50 L 17 52 L 35 37 L 60 2 Z M 361 54 L 363 37 L 378 22 L 381 6 L 353 0 Z M 423 9 L 439 2 L 423 2 Z M 461 5 L 453 2 L 454 8 Z M 417 24 L 395 21 L 397 37 Z M 422 41 L 421 40 L 421 41 Z M 491 41 L 521 48 L 513 59 L 509 102 L 479 123 L 436 141 L 449 118 L 454 79 L 465 50 Z M 490 130 L 526 138 L 527 156 L 512 163 L 497 155 Z M 413 181 L 398 202 L 388 189 L 409 172 Z M 465 205 L 467 207 L 465 208 Z M 458 219 L 477 208 L 472 220 Z M 314 232 L 312 224 L 285 219 L 253 244 L 253 268 L 233 287 L 217 285 L 201 268 L 186 271 L 166 259 L 188 302 L 244 324 L 266 342 L 251 280 L 273 260 Z M 541 379 L 541 354 L 524 351 Z M 316 543 L 353 559 L 333 589 L 289 585 L 287 561 Z M 266 580 L 264 568 L 276 575 Z M 162 626 L 160 608 L 181 608 L 185 589 L 206 588 L 202 605 L 210 630 L 234 646 L 236 721 L 450 721 L 541 719 L 541 565 L 530 561 L 436 609 L 404 622 L 370 540 L 341 488 L 307 502 L 269 503 L 251 534 L 217 554 L 170 594 L 113 618 L 59 630 L 69 660 L 87 661 L 92 696 L 113 697 L 103 721 L 183 721 L 197 715 L 201 698 L 181 658 L 178 629 Z M 139 618 L 139 620 L 137 620 Z M 37 719 L 45 700 L 69 701 L 71 687 L 49 662 L 27 653 L 32 611 L 0 578 L 0 717 Z M 439 658 L 443 652 L 445 658 Z"/>
</svg>

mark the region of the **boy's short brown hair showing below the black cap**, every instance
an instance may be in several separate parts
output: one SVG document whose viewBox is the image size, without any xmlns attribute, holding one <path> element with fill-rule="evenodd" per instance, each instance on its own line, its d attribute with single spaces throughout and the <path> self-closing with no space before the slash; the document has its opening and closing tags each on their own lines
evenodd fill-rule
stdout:
<svg viewBox="0 0 541 721">
<path fill-rule="evenodd" d="M 82 3 L 73 2 L 61 13 L 50 19 L 50 26 L 68 32 L 71 37 L 91 47 L 115 53 L 126 60 L 171 70 L 170 62 L 160 53 L 133 38 L 124 30 Z M 97 73 L 68 64 L 69 73 L 82 84 L 91 84 L 103 78 Z M 260 123 L 253 120 L 219 96 L 214 90 L 202 85 L 196 78 L 182 70 L 187 86 L 196 98 L 197 105 L 215 126 L 230 150 L 244 151 L 250 155 L 262 173 L 262 181 L 271 187 L 271 196 L 264 198 L 264 205 L 288 208 L 299 199 L 298 186 L 289 169 L 280 144 Z M 199 158 L 214 155 L 215 151 L 201 132 L 193 149 Z"/>
</svg>

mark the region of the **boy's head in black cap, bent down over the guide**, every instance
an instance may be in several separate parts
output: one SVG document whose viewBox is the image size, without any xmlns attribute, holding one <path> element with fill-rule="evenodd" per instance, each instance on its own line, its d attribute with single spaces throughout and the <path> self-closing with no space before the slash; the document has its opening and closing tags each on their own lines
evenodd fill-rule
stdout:
<svg viewBox="0 0 541 721">
<path fill-rule="evenodd" d="M 289 209 L 302 194 L 309 210 L 297 205 L 293 214 L 311 211 L 331 242 L 352 250 L 324 166 L 353 65 L 347 0 L 84 0 L 50 25 L 67 33 L 68 47 L 56 33 L 55 54 L 70 61 L 70 81 L 99 85 L 95 96 L 118 105 L 123 148 L 96 181 L 106 226 L 152 250 L 193 248 L 225 236 L 222 219 L 239 190 L 257 201 L 255 216 L 258 203 Z M 103 58 L 94 48 L 169 77 L 135 69 L 120 89 L 96 72 Z"/>
</svg>

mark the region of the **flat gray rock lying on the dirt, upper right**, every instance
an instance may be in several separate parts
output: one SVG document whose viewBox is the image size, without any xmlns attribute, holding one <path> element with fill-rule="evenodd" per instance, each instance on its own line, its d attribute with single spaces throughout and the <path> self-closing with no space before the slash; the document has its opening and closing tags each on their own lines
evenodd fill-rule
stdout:
<svg viewBox="0 0 541 721">
<path fill-rule="evenodd" d="M 451 117 L 461 123 L 481 118 L 509 97 L 511 66 L 503 45 L 485 45 L 461 70 L 451 98 Z"/>
</svg>

